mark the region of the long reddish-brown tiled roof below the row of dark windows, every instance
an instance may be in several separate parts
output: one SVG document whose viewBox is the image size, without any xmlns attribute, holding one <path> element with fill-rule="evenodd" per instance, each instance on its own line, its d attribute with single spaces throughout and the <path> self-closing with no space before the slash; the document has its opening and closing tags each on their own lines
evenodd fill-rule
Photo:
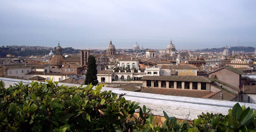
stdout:
<svg viewBox="0 0 256 132">
<path fill-rule="evenodd" d="M 151 93 L 151 94 L 172 95 L 172 96 L 193 97 L 193 98 L 202 98 L 212 93 L 211 91 L 180 90 L 180 89 L 170 89 L 170 88 L 147 88 L 147 87 L 141 89 L 140 92 Z"/>
</svg>

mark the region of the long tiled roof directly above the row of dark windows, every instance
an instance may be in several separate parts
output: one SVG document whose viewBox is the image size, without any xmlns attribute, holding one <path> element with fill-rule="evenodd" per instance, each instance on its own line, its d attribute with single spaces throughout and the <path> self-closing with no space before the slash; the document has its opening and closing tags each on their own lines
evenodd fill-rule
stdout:
<svg viewBox="0 0 256 132">
<path fill-rule="evenodd" d="M 170 75 L 170 76 L 143 76 L 140 80 L 157 80 L 157 81 L 188 81 L 188 82 L 201 82 L 201 83 L 210 83 L 209 78 L 203 76 L 178 76 L 178 75 Z"/>
</svg>

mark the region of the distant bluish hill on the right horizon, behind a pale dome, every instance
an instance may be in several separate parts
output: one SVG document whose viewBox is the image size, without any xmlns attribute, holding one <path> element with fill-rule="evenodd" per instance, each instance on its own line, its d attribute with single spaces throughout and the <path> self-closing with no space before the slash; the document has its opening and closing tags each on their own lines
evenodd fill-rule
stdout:
<svg viewBox="0 0 256 132">
<path fill-rule="evenodd" d="M 225 49 L 225 47 L 222 48 L 211 48 L 211 49 L 198 49 L 195 52 L 223 52 L 223 50 Z M 234 47 L 230 47 L 229 51 L 243 51 L 243 52 L 254 52 L 255 48 L 254 47 L 247 47 L 247 46 L 234 46 Z"/>
</svg>

